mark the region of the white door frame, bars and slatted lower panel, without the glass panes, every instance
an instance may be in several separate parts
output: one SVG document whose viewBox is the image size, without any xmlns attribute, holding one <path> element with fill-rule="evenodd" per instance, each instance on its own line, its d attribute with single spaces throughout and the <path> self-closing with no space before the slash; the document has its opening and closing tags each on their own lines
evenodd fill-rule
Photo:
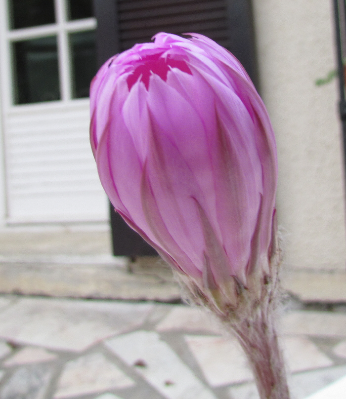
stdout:
<svg viewBox="0 0 346 399">
<path fill-rule="evenodd" d="M 54 5 L 56 19 L 54 24 L 11 30 L 8 18 L 8 2 L 7 0 L 0 0 L 0 192 L 2 193 L 2 196 L 0 196 L 0 229 L 1 226 L 10 226 L 18 223 L 50 224 L 85 221 L 103 222 L 108 220 L 108 201 L 99 183 L 96 165 L 92 159 L 88 143 L 87 122 L 89 120 L 89 98 L 72 98 L 72 52 L 69 48 L 68 36 L 75 32 L 94 30 L 96 28 L 96 19 L 85 18 L 68 21 L 66 12 L 67 0 L 54 0 Z M 15 104 L 13 95 L 15 86 L 12 82 L 14 77 L 11 65 L 12 42 L 52 35 L 56 35 L 57 38 L 61 99 L 57 101 Z M 42 131 L 41 126 L 44 126 L 48 142 L 50 137 L 53 137 L 53 140 L 50 142 L 51 144 L 47 144 L 51 150 L 55 146 L 54 137 L 57 135 L 57 118 L 60 117 L 62 134 L 66 135 L 69 131 L 72 131 L 76 135 L 72 135 L 72 138 L 67 139 L 66 148 L 63 147 L 64 144 L 59 144 L 63 149 L 57 150 L 57 158 L 60 157 L 59 151 L 62 151 L 62 156 L 63 158 L 65 157 L 64 150 L 68 149 L 70 139 L 72 141 L 77 140 L 78 145 L 80 145 L 77 151 L 83 162 L 78 163 L 76 166 L 76 162 L 71 162 L 71 156 L 68 154 L 64 158 L 64 162 L 67 165 L 66 167 L 71 168 L 72 174 L 75 174 L 75 176 L 78 176 L 81 170 L 81 184 L 74 188 L 69 186 L 69 178 L 64 180 L 65 177 L 63 177 L 62 179 L 58 179 L 62 186 L 64 186 L 59 186 L 62 187 L 61 192 L 59 191 L 60 188 L 56 192 L 54 190 L 46 190 L 44 184 L 47 182 L 47 175 L 43 176 L 43 174 L 47 172 L 45 170 L 46 165 L 50 168 L 48 168 L 49 173 L 54 162 L 56 163 L 56 159 L 54 158 L 56 154 L 53 154 L 52 164 L 50 164 L 50 160 L 39 160 L 39 163 L 41 162 L 42 165 L 40 173 L 36 175 L 29 170 L 29 174 L 31 173 L 30 178 L 37 178 L 36 183 L 40 186 L 35 189 L 35 193 L 33 195 L 29 193 L 28 197 L 25 197 L 23 193 L 18 194 L 16 189 L 13 188 L 17 184 L 15 180 L 18 176 L 20 177 L 21 173 L 21 170 L 18 171 L 18 168 L 20 169 L 21 166 L 20 160 L 17 161 L 17 149 L 19 148 L 20 152 L 23 147 L 20 147 L 22 144 L 19 147 L 13 146 L 12 140 L 16 140 L 15 136 L 13 136 L 13 131 L 15 131 L 14 135 L 19 134 L 20 137 L 20 130 L 22 132 L 25 130 L 24 134 L 30 136 L 31 134 L 35 135 L 35 129 L 38 128 L 38 135 L 40 136 L 40 131 Z M 49 122 L 50 118 L 53 120 L 52 123 Z M 46 123 L 46 121 L 48 122 Z M 19 129 L 19 133 L 16 129 Z M 50 134 L 52 136 L 49 136 Z M 25 143 L 25 137 L 23 142 Z M 35 139 L 32 143 L 35 143 Z M 38 141 L 37 144 L 38 151 L 42 155 L 40 142 Z M 28 154 L 25 153 L 24 155 L 28 156 L 30 161 L 30 157 L 35 156 L 33 155 L 35 151 L 36 148 L 33 150 L 32 146 L 28 146 Z M 47 164 L 43 165 L 43 162 L 47 162 Z M 61 173 L 65 173 L 63 172 L 63 168 L 58 167 L 57 169 L 59 173 L 60 171 Z M 34 198 L 35 196 L 37 197 Z M 83 206 L 79 206 L 79 203 L 82 203 L 82 201 L 84 201 Z M 94 206 L 95 203 L 98 204 L 97 207 Z M 52 206 L 51 213 L 46 211 L 50 209 L 50 206 Z M 19 208 L 20 211 L 18 211 Z M 24 210 L 21 211 L 22 209 Z"/>
</svg>

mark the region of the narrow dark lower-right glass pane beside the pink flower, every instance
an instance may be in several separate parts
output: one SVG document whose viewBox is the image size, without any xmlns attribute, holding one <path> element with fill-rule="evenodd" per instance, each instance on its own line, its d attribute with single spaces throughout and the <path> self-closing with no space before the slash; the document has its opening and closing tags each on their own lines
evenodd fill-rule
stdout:
<svg viewBox="0 0 346 399">
<path fill-rule="evenodd" d="M 72 96 L 89 96 L 91 79 L 96 74 L 95 31 L 70 34 L 72 60 Z"/>
</svg>

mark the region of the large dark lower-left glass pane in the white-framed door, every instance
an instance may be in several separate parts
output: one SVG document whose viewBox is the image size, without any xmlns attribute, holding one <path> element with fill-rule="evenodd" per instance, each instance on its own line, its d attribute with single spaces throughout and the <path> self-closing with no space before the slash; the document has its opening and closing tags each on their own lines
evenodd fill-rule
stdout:
<svg viewBox="0 0 346 399">
<path fill-rule="evenodd" d="M 16 104 L 60 100 L 56 37 L 13 43 Z"/>
</svg>

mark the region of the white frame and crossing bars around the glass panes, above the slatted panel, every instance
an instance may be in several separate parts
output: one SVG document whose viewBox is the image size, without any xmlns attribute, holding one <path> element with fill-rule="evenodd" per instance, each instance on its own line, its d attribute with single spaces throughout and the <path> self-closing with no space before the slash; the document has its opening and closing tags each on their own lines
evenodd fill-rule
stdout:
<svg viewBox="0 0 346 399">
<path fill-rule="evenodd" d="M 0 52 L 2 54 L 0 68 L 2 70 L 2 106 L 6 109 L 13 107 L 25 107 L 42 103 L 14 104 L 13 73 L 11 45 L 14 41 L 56 36 L 58 52 L 58 68 L 60 83 L 60 100 L 58 102 L 78 101 L 72 98 L 71 76 L 71 52 L 68 35 L 75 32 L 84 32 L 96 29 L 95 18 L 84 18 L 74 21 L 67 20 L 67 0 L 54 0 L 55 19 L 54 24 L 40 25 L 30 28 L 10 29 L 8 15 L 8 1 L 0 1 Z M 7 79 L 5 78 L 7 77 Z M 8 79 L 10 77 L 10 79 Z M 43 104 L 46 104 L 43 103 Z"/>
</svg>

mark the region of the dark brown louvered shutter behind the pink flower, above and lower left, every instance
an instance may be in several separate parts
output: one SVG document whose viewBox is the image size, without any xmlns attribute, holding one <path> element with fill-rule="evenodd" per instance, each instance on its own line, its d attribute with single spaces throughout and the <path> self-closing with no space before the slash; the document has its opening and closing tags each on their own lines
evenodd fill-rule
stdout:
<svg viewBox="0 0 346 399">
<path fill-rule="evenodd" d="M 231 51 L 257 83 L 251 0 L 93 0 L 97 18 L 97 57 L 112 55 L 158 32 L 200 33 Z M 111 206 L 115 255 L 154 255 Z"/>
</svg>

